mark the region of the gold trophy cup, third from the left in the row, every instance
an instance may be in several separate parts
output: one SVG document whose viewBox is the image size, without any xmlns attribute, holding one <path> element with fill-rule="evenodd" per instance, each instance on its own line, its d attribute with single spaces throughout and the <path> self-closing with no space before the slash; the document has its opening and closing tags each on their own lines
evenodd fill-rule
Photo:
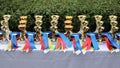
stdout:
<svg viewBox="0 0 120 68">
<path fill-rule="evenodd" d="M 41 33 L 42 33 L 42 31 L 41 31 L 41 29 L 42 29 L 42 27 L 41 27 L 41 25 L 42 25 L 42 18 L 43 18 L 43 16 L 41 16 L 41 15 L 35 15 L 35 27 L 34 27 L 34 29 L 35 29 L 35 31 L 36 31 L 36 41 L 39 41 L 40 40 L 40 38 L 39 37 L 41 37 Z"/>
</svg>

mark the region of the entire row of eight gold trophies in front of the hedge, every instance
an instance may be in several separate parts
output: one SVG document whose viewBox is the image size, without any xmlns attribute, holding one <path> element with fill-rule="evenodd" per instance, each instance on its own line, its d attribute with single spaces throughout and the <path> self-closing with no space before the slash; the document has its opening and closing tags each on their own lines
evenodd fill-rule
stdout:
<svg viewBox="0 0 120 68">
<path fill-rule="evenodd" d="M 8 21 L 10 19 L 11 15 L 4 15 L 3 16 L 3 19 L 1 21 L 1 30 L 3 32 L 3 40 L 9 40 L 9 33 L 10 33 L 10 30 L 9 30 L 9 26 L 8 26 Z M 103 21 L 102 20 L 102 16 L 101 15 L 95 15 L 95 20 L 96 20 L 96 30 L 95 32 L 98 33 L 98 37 L 99 37 L 99 41 L 101 41 L 101 33 L 102 31 L 104 30 L 104 27 L 103 27 Z M 41 36 L 41 25 L 42 25 L 42 18 L 43 16 L 41 15 L 35 15 L 35 26 L 34 26 L 34 29 L 36 31 L 36 41 L 39 41 L 40 40 L 40 36 Z M 70 34 L 72 34 L 72 29 L 73 29 L 73 26 L 72 26 L 72 16 L 66 16 L 65 17 L 66 20 L 64 21 L 64 24 L 65 24 L 65 34 L 66 36 L 70 39 Z M 79 20 L 80 20 L 80 30 L 78 33 L 80 33 L 82 36 L 81 36 L 81 39 L 84 41 L 84 38 L 86 37 L 86 33 L 88 32 L 89 30 L 89 27 L 88 27 L 88 21 L 86 20 L 86 15 L 79 15 L 78 16 Z M 117 27 L 117 16 L 115 15 L 110 15 L 109 16 L 110 18 L 110 25 L 111 25 L 111 30 L 109 31 L 113 38 L 116 38 L 115 37 L 115 34 L 116 32 L 118 31 L 118 27 Z M 59 15 L 52 15 L 51 16 L 51 32 L 52 32 L 52 41 L 55 41 L 56 37 L 55 37 L 55 34 L 58 32 L 57 30 L 57 24 L 58 24 L 58 20 L 59 20 Z M 21 16 L 20 17 L 20 21 L 19 21 L 19 25 L 18 25 L 18 28 L 19 30 L 21 31 L 20 32 L 20 40 L 25 40 L 25 33 L 26 33 L 26 24 L 27 24 L 27 16 Z"/>
</svg>

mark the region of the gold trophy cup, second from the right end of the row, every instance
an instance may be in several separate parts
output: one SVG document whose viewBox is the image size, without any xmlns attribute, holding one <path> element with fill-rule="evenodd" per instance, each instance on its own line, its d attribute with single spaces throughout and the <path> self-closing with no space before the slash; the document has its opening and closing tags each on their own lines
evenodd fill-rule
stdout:
<svg viewBox="0 0 120 68">
<path fill-rule="evenodd" d="M 102 37 L 101 37 L 101 33 L 104 30 L 103 25 L 103 21 L 101 21 L 102 16 L 101 15 L 95 15 L 95 20 L 96 20 L 96 30 L 95 32 L 98 33 L 98 42 L 102 42 Z"/>
</svg>

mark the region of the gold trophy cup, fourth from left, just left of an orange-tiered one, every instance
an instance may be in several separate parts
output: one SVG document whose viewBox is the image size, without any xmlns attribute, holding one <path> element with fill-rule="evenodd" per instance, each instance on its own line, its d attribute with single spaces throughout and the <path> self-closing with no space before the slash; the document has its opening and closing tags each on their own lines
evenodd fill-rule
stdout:
<svg viewBox="0 0 120 68">
<path fill-rule="evenodd" d="M 52 31 L 52 41 L 55 42 L 55 40 L 56 40 L 55 34 L 58 32 L 57 24 L 58 24 L 59 16 L 58 15 L 52 15 L 51 18 L 52 18 L 52 20 L 50 22 L 50 24 L 51 24 L 50 29 Z"/>
</svg>

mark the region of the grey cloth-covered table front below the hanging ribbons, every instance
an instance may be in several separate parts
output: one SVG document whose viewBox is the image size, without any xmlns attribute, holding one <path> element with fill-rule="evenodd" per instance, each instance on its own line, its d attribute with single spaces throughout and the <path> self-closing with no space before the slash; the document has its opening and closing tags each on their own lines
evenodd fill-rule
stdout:
<svg viewBox="0 0 120 68">
<path fill-rule="evenodd" d="M 30 53 L 0 50 L 0 68 L 120 68 L 120 52 L 87 52 L 35 50 Z"/>
</svg>

